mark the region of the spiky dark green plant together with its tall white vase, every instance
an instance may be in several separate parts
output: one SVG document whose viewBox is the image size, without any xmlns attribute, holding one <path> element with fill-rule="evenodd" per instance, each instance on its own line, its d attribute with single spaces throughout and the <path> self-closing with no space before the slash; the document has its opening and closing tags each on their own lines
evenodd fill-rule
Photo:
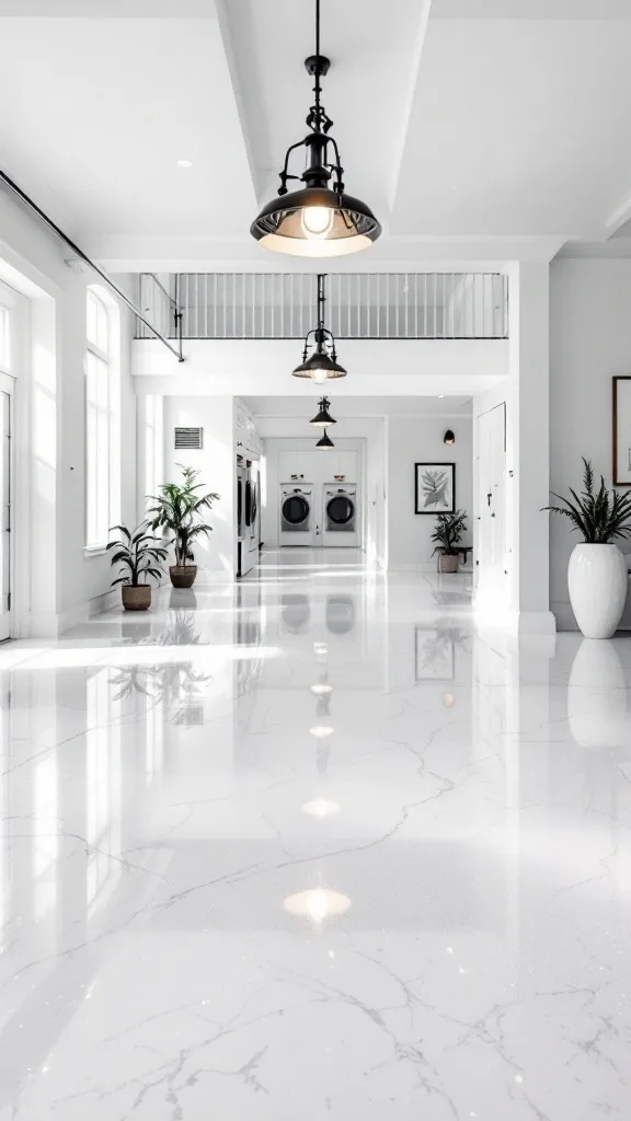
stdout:
<svg viewBox="0 0 631 1121">
<path fill-rule="evenodd" d="M 611 638 L 618 629 L 627 599 L 627 557 L 615 544 L 631 537 L 631 493 L 609 491 L 601 475 L 594 483 L 589 460 L 583 457 L 583 491 L 569 488 L 571 499 L 555 494 L 563 506 L 546 510 L 569 518 L 571 530 L 583 536 L 569 558 L 567 584 L 576 622 L 585 638 Z"/>
</svg>

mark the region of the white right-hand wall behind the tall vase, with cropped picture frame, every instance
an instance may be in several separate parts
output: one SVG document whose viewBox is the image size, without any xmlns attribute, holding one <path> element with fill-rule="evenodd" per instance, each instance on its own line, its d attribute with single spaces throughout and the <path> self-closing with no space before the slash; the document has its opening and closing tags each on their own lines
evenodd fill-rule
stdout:
<svg viewBox="0 0 631 1121">
<path fill-rule="evenodd" d="M 550 268 L 550 487 L 580 489 L 580 456 L 612 478 L 613 374 L 631 371 L 631 261 L 555 260 Z M 567 563 L 578 535 L 550 520 L 550 606 L 559 629 L 576 622 Z M 625 553 L 630 543 L 621 543 Z M 629 597 L 631 600 L 631 597 Z M 631 627 L 628 600 L 623 626 Z"/>
</svg>

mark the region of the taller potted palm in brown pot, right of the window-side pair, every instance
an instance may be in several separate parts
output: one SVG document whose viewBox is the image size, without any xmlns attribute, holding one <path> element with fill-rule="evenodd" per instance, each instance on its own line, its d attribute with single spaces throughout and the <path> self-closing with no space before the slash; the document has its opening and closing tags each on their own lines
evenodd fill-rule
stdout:
<svg viewBox="0 0 631 1121">
<path fill-rule="evenodd" d="M 174 587 L 191 587 L 198 575 L 192 547 L 200 537 L 208 537 L 212 526 L 202 520 L 205 510 L 212 509 L 212 503 L 219 500 L 219 494 L 200 494 L 202 483 L 195 480 L 199 471 L 194 467 L 182 469 L 181 483 L 163 483 L 158 494 L 149 495 L 154 503 L 147 515 L 150 527 L 173 534 L 168 544 L 175 548 L 175 564 L 170 566 L 168 574 Z"/>
</svg>

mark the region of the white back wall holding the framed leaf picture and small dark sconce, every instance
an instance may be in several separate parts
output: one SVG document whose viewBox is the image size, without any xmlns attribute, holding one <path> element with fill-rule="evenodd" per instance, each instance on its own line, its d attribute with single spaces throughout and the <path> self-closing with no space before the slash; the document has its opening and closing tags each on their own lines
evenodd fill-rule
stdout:
<svg viewBox="0 0 631 1121">
<path fill-rule="evenodd" d="M 447 428 L 456 443 L 443 443 Z M 464 544 L 472 543 L 473 517 L 473 443 L 472 418 L 461 415 L 443 417 L 387 418 L 387 537 L 390 568 L 436 565 L 431 553 L 431 534 L 436 517 L 414 513 L 414 463 L 456 464 L 456 507 L 468 515 L 468 532 Z"/>
</svg>

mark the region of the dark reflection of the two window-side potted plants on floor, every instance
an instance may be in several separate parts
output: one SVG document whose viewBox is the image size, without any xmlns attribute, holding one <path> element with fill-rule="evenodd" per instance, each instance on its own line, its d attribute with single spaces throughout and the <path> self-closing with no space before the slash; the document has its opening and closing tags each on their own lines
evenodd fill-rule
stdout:
<svg viewBox="0 0 631 1121">
<path fill-rule="evenodd" d="M 157 636 L 147 636 L 138 641 L 122 640 L 124 646 L 198 646 L 200 633 L 195 629 L 195 617 L 190 611 L 171 611 L 170 622 Z M 210 674 L 195 673 L 190 661 L 171 661 L 148 666 L 126 666 L 110 678 L 118 686 L 115 701 L 122 701 L 140 693 L 147 704 L 164 705 L 165 719 L 176 724 L 203 723 L 201 698 L 210 682 Z"/>
</svg>

